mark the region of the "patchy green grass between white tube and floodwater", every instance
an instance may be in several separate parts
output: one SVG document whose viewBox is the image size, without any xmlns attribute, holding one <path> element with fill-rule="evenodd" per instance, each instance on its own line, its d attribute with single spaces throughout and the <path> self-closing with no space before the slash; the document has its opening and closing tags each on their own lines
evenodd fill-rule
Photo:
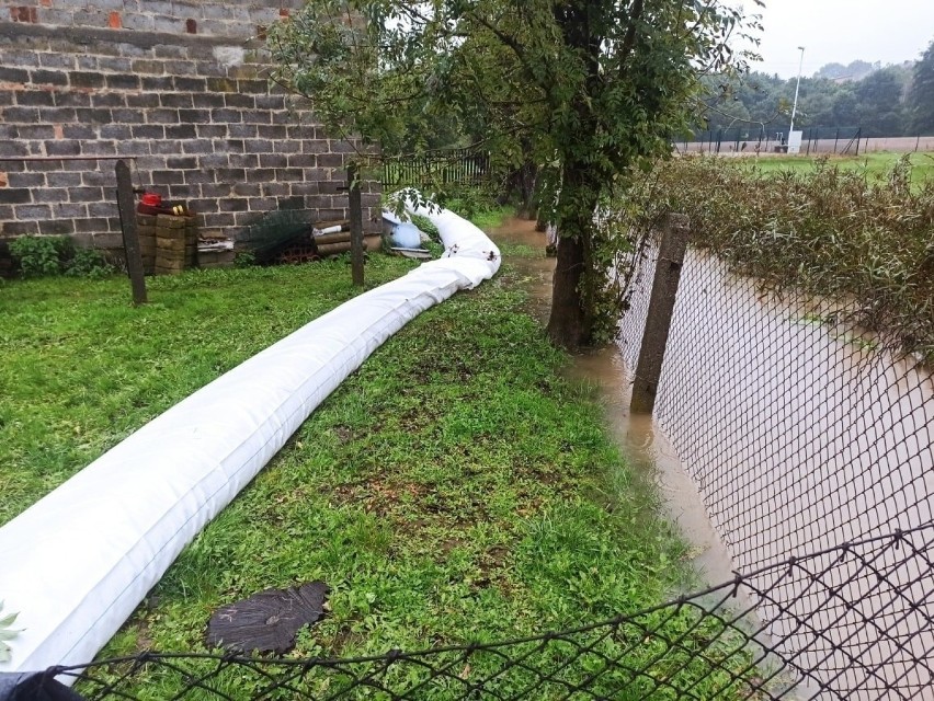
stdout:
<svg viewBox="0 0 934 701">
<path fill-rule="evenodd" d="M 508 637 L 658 601 L 682 547 L 630 493 L 600 409 L 559 379 L 566 357 L 524 300 L 506 272 L 378 349 L 104 654 L 202 650 L 217 606 L 310 579 L 332 587 L 332 612 L 306 656 Z"/>
</svg>

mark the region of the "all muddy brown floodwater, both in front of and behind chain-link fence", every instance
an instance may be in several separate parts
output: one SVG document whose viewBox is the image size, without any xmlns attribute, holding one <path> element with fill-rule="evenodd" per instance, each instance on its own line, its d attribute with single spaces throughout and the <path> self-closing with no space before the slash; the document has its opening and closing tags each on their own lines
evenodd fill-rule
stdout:
<svg viewBox="0 0 934 701">
<path fill-rule="evenodd" d="M 534 222 L 509 221 L 491 234 L 545 246 Z M 629 368 L 653 255 L 640 265 L 618 347 L 577 356 L 569 375 L 597 392 L 612 433 L 656 484 L 706 584 L 934 519 L 932 374 L 827 323 L 827 310 L 810 300 L 762 295 L 700 252 L 690 250 L 682 268 L 654 416 L 630 416 Z M 554 260 L 508 262 L 546 321 Z M 765 595 L 774 604 L 759 612 L 772 621 L 773 640 L 847 698 L 930 690 L 934 675 L 915 660 L 934 651 L 931 565 L 923 549 L 913 558 L 908 550 L 828 561 L 817 578 L 772 581 Z M 805 683 L 797 693 L 819 696 Z"/>
</svg>

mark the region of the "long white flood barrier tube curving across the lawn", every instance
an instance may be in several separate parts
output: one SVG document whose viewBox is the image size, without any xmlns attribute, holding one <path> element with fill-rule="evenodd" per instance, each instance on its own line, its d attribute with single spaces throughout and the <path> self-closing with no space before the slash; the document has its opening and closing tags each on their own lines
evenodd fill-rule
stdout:
<svg viewBox="0 0 934 701">
<path fill-rule="evenodd" d="M 0 600 L 19 612 L 0 673 L 91 660 L 182 549 L 308 415 L 420 312 L 499 269 L 472 223 L 421 211 L 445 257 L 365 292 L 161 414 L 0 528 Z"/>
</svg>

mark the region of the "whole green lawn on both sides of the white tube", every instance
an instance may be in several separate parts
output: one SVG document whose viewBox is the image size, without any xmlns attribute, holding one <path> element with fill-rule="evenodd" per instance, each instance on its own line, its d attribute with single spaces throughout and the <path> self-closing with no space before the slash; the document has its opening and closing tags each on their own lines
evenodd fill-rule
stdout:
<svg viewBox="0 0 934 701">
<path fill-rule="evenodd" d="M 376 281 L 409 265 L 373 256 L 367 272 Z M 330 612 L 299 634 L 296 657 L 502 640 L 664 600 L 690 576 L 684 547 L 600 407 L 561 379 L 567 357 L 523 311 L 516 276 L 505 264 L 378 349 L 102 656 L 206 652 L 215 608 L 312 579 L 331 587 Z M 4 515 L 337 306 L 348 278 L 342 263 L 162 278 L 144 310 L 128 307 L 123 280 L 7 285 L 0 479 L 15 498 Z M 160 699 L 183 680 L 153 673 L 140 685 Z"/>
</svg>

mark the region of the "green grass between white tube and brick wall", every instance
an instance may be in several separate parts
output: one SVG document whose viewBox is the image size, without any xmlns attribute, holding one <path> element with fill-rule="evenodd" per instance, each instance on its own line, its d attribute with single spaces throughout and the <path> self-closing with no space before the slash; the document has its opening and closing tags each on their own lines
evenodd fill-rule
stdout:
<svg viewBox="0 0 934 701">
<path fill-rule="evenodd" d="M 374 255 L 376 285 L 413 267 Z M 355 291 L 341 260 L 149 278 L 0 280 L 0 524 L 196 389 Z"/>
</svg>

